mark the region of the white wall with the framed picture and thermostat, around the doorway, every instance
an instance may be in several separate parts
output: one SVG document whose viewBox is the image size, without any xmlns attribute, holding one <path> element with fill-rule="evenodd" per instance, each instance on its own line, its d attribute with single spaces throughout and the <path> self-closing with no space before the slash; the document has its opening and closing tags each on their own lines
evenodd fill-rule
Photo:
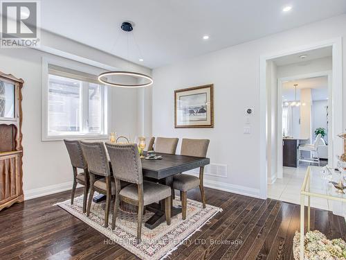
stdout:
<svg viewBox="0 0 346 260">
<path fill-rule="evenodd" d="M 345 35 L 346 15 L 341 15 L 154 69 L 154 135 L 210 139 L 208 157 L 211 162 L 227 164 L 228 177 L 206 175 L 206 183 L 259 196 L 260 55 Z M 345 42 L 343 46 L 345 49 Z M 345 51 L 343 60 L 346 61 Z M 343 78 L 346 80 L 345 72 Z M 209 83 L 215 85 L 215 128 L 174 129 L 174 89 Z M 345 98 L 346 91 L 343 96 Z M 253 107 L 255 112 L 251 118 L 251 135 L 244 135 L 245 109 L 248 107 Z M 345 107 L 343 112 L 345 122 Z"/>
</svg>

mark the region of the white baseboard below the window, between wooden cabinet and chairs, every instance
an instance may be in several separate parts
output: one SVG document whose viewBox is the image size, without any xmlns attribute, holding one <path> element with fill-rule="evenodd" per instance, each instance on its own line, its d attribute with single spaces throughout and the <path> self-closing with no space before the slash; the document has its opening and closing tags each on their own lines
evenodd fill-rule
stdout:
<svg viewBox="0 0 346 260">
<path fill-rule="evenodd" d="M 73 182 L 64 182 L 60 184 L 53 184 L 46 187 L 41 187 L 37 189 L 29 189 L 27 191 L 24 190 L 24 200 L 30 200 L 32 198 L 39 198 L 42 196 L 62 192 L 69 191 L 72 189 Z M 82 187 L 82 185 L 78 184 L 77 188 Z"/>
</svg>

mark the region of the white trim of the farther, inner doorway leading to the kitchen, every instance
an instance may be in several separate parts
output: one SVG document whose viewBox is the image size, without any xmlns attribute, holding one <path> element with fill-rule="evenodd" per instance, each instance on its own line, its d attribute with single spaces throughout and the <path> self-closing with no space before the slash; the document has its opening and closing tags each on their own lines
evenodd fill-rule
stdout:
<svg viewBox="0 0 346 260">
<path fill-rule="evenodd" d="M 293 81 L 293 80 L 301 80 L 304 78 L 317 78 L 317 77 L 323 77 L 327 76 L 328 78 L 328 106 L 331 107 L 331 101 L 332 101 L 332 92 L 331 92 L 331 77 L 332 77 L 332 71 L 320 71 L 316 73 L 307 73 L 307 74 L 301 74 L 296 76 L 290 76 L 285 78 L 278 78 L 277 79 L 277 178 L 282 179 L 283 177 L 283 171 L 282 171 L 282 135 L 280 133 L 282 132 L 282 85 L 284 82 L 287 81 Z M 329 112 L 329 124 L 328 124 L 328 132 L 333 132 L 333 114 L 330 110 Z M 328 164 L 333 165 L 333 141 L 332 136 L 328 135 Z"/>
</svg>

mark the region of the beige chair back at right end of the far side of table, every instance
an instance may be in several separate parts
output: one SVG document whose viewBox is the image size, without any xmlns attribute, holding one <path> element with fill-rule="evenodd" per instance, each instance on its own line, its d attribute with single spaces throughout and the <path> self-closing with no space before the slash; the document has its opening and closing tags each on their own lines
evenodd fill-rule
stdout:
<svg viewBox="0 0 346 260">
<path fill-rule="evenodd" d="M 209 146 L 208 139 L 183 139 L 181 155 L 206 157 Z"/>
</svg>

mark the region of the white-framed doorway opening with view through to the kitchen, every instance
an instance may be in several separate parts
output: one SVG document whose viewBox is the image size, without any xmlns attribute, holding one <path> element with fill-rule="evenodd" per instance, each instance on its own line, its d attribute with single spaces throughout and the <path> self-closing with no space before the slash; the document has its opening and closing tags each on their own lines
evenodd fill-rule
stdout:
<svg viewBox="0 0 346 260">
<path fill-rule="evenodd" d="M 341 53 L 336 39 L 261 57 L 262 198 L 299 204 L 307 166 L 335 166 L 343 148 L 336 137 L 343 130 Z M 298 149 L 314 144 L 318 150 Z M 329 209 L 327 201 L 313 207 Z"/>
</svg>

